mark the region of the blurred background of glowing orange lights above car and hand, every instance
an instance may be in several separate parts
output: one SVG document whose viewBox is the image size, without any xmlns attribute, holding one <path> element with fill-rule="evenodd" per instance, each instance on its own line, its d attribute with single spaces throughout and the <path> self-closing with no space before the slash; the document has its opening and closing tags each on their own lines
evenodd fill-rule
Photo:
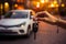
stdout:
<svg viewBox="0 0 66 44">
<path fill-rule="evenodd" d="M 48 11 L 52 14 L 66 15 L 66 0 L 0 0 L 0 15 L 10 10 L 31 9 L 35 12 Z M 62 14 L 63 13 L 63 14 Z"/>
</svg>

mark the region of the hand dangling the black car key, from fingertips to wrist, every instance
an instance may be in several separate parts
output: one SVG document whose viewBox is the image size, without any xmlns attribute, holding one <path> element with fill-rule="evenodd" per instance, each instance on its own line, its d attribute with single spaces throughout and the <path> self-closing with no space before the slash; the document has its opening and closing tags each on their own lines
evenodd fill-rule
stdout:
<svg viewBox="0 0 66 44">
<path fill-rule="evenodd" d="M 44 11 L 44 13 L 47 15 L 47 16 L 44 16 L 44 18 L 35 18 L 37 19 L 38 21 L 47 21 L 47 22 L 52 22 L 52 23 L 55 23 L 57 22 L 57 18 L 50 14 L 47 11 Z"/>
</svg>

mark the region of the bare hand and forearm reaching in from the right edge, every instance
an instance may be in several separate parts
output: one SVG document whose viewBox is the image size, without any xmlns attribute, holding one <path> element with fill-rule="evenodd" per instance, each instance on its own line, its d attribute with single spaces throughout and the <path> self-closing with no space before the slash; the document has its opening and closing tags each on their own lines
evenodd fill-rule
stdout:
<svg viewBox="0 0 66 44">
<path fill-rule="evenodd" d="M 46 18 L 36 18 L 36 20 L 37 21 L 47 22 L 50 24 L 58 25 L 58 26 L 61 26 L 61 28 L 66 30 L 66 21 L 62 20 L 62 19 L 57 19 L 56 16 L 54 16 L 52 14 L 47 14 Z"/>
</svg>

